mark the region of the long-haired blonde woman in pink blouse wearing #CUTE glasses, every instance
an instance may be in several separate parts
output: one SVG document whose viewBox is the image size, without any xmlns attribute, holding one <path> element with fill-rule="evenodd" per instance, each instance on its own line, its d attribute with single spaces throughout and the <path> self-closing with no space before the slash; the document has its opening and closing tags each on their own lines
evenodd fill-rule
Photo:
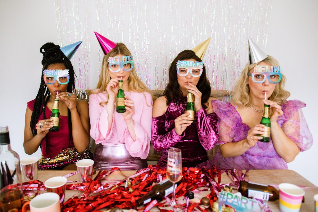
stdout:
<svg viewBox="0 0 318 212">
<path fill-rule="evenodd" d="M 128 58 L 126 56 L 131 53 L 122 43 L 104 56 L 100 80 L 89 96 L 91 136 L 97 144 L 94 153 L 97 170 L 113 167 L 136 170 L 148 166 L 145 159 L 151 138 L 152 95 L 138 78 L 133 63 L 109 64 L 112 58 Z M 125 113 L 116 112 L 120 79 L 125 92 Z"/>
</svg>

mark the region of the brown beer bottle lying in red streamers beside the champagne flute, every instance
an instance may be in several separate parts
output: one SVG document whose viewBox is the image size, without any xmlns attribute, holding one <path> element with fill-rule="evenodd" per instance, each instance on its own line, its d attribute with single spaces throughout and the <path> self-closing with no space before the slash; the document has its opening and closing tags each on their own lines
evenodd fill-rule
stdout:
<svg viewBox="0 0 318 212">
<path fill-rule="evenodd" d="M 180 181 L 175 184 L 175 189 Z M 168 178 L 156 184 L 146 195 L 136 200 L 137 206 L 144 205 L 152 200 L 161 201 L 164 197 L 172 193 L 172 182 Z"/>
</svg>

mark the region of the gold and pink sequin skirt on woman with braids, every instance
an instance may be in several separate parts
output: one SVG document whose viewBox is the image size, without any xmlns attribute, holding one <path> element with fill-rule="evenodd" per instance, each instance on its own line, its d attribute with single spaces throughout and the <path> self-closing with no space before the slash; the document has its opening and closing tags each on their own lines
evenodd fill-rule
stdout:
<svg viewBox="0 0 318 212">
<path fill-rule="evenodd" d="M 63 168 L 66 165 L 76 163 L 81 159 L 93 159 L 93 154 L 90 150 L 86 149 L 84 152 L 79 153 L 75 147 L 63 149 L 58 155 L 51 158 L 41 157 L 38 161 L 38 170 L 49 168 Z"/>
</svg>

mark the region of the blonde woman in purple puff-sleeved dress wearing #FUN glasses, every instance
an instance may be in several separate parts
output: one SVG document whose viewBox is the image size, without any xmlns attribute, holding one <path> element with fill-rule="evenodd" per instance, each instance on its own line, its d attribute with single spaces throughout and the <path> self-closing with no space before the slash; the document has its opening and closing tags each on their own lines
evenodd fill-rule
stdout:
<svg viewBox="0 0 318 212">
<path fill-rule="evenodd" d="M 312 146 L 312 135 L 301 108 L 306 104 L 289 100 L 286 78 L 280 72 L 254 72 L 256 65 L 279 67 L 276 59 L 246 65 L 236 82 L 232 102 L 212 101 L 219 118 L 219 150 L 207 167 L 220 169 L 287 169 L 300 151 Z M 265 93 L 267 94 L 266 100 Z M 271 139 L 258 141 L 264 133 L 259 124 L 264 104 L 270 105 Z"/>
</svg>

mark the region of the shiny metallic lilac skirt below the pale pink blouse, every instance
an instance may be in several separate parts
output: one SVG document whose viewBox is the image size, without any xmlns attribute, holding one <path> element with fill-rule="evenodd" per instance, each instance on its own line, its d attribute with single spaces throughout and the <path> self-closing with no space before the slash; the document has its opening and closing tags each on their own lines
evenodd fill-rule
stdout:
<svg viewBox="0 0 318 212">
<path fill-rule="evenodd" d="M 121 170 L 137 170 L 148 167 L 145 159 L 134 158 L 130 155 L 125 143 L 114 145 L 97 144 L 94 161 L 96 170 L 110 170 L 114 167 L 118 167 Z"/>
</svg>

